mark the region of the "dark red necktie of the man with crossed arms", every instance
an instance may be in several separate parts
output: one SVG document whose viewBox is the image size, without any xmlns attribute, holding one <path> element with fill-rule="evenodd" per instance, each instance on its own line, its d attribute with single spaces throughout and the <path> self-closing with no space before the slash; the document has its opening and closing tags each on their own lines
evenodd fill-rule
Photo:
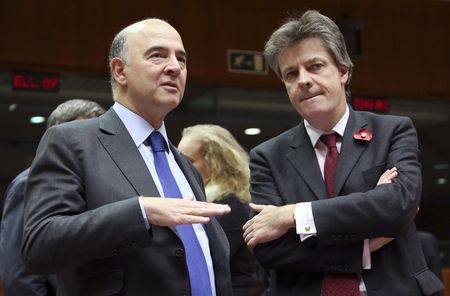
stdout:
<svg viewBox="0 0 450 296">
<path fill-rule="evenodd" d="M 336 138 L 336 133 L 320 137 L 320 140 L 328 147 L 323 175 L 329 198 L 334 197 L 334 180 L 339 158 Z M 358 277 L 356 274 L 326 273 L 322 281 L 322 296 L 361 296 Z"/>
</svg>

